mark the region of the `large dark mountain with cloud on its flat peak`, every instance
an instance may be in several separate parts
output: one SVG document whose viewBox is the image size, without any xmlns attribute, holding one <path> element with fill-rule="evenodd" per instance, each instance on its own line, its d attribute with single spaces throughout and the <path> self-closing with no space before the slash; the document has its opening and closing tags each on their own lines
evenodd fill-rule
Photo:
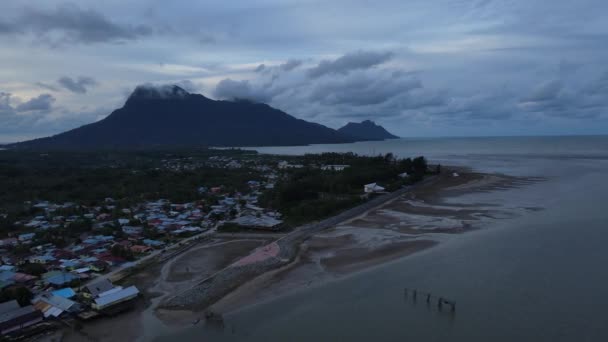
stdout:
<svg viewBox="0 0 608 342">
<path fill-rule="evenodd" d="M 105 119 L 14 147 L 268 146 L 353 142 L 266 104 L 215 101 L 177 86 L 140 86 Z"/>
</svg>

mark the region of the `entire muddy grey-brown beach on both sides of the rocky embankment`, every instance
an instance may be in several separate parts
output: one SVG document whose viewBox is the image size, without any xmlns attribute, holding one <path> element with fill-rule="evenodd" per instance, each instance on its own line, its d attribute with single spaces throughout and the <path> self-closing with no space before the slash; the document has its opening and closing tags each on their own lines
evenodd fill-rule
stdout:
<svg viewBox="0 0 608 342">
<path fill-rule="evenodd" d="M 244 307 L 370 269 L 441 243 L 450 235 L 481 229 L 487 220 L 520 215 L 539 208 L 503 208 L 493 203 L 458 203 L 449 199 L 471 192 L 523 186 L 538 179 L 488 175 L 459 169 L 407 192 L 360 216 L 324 229 L 294 246 L 294 258 L 280 267 L 232 284 L 227 295 L 210 306 L 167 308 L 163 303 L 178 293 L 200 286 L 225 269 L 278 260 L 282 244 L 276 234 L 248 234 L 246 238 L 216 238 L 201 243 L 162 265 L 153 265 L 126 280 L 144 291 L 131 312 L 87 322 L 80 332 L 56 336 L 62 341 L 147 341 L 158 334 L 204 320 L 204 312 L 229 315 Z M 280 239 L 285 240 L 285 239 Z M 282 247 L 283 246 L 283 247 Z M 285 262 L 288 261 L 288 262 Z M 213 278 L 213 277 L 211 277 Z M 201 322 L 200 324 L 204 324 Z M 47 339 L 48 340 L 48 339 Z"/>
</svg>

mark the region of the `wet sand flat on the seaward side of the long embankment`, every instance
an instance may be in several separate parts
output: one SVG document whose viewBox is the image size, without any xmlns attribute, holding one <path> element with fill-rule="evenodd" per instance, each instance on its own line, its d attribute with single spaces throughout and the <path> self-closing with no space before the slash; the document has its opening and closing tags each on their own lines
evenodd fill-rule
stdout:
<svg viewBox="0 0 608 342">
<path fill-rule="evenodd" d="M 539 179 L 487 175 L 459 169 L 380 208 L 315 234 L 300 245 L 291 264 L 247 282 L 211 309 L 230 314 L 298 289 L 319 286 L 431 248 L 449 235 L 483 228 L 486 220 L 514 217 L 522 208 L 492 203 L 447 203 L 471 192 L 524 186 Z M 523 208 L 540 210 L 541 208 Z"/>
</svg>

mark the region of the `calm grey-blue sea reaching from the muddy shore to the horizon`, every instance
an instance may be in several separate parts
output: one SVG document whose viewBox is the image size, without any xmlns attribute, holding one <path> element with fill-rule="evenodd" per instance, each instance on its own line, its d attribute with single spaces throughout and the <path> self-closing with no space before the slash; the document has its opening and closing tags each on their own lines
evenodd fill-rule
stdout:
<svg viewBox="0 0 608 342">
<path fill-rule="evenodd" d="M 460 202 L 540 207 L 420 253 L 157 341 L 608 341 L 608 136 L 420 138 L 261 147 L 261 153 L 424 155 L 542 178 Z M 439 311 L 404 289 L 441 294 Z"/>
</svg>

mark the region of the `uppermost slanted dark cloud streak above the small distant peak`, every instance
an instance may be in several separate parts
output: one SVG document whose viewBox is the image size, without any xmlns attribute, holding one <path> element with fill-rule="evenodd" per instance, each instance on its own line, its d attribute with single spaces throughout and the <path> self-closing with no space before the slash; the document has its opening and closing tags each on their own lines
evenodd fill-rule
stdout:
<svg viewBox="0 0 608 342">
<path fill-rule="evenodd" d="M 333 61 L 323 60 L 316 67 L 309 69 L 308 75 L 317 78 L 327 74 L 347 74 L 353 70 L 368 69 L 382 64 L 392 57 L 392 52 L 357 51 Z"/>
</svg>

